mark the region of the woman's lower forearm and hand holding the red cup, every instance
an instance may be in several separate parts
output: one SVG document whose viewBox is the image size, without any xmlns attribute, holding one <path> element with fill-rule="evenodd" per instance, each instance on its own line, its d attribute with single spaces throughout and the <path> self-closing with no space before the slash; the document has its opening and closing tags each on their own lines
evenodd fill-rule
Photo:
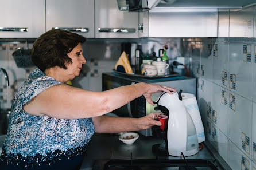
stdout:
<svg viewBox="0 0 256 170">
<path fill-rule="evenodd" d="M 141 118 L 98 116 L 92 117 L 96 133 L 119 133 L 148 129 L 154 125 L 161 126 L 157 116 L 161 113 L 150 113 Z"/>
</svg>

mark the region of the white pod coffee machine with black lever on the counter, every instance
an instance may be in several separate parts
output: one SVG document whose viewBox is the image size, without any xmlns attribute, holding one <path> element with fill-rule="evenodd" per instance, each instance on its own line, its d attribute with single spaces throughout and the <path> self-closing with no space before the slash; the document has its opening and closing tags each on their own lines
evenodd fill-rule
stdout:
<svg viewBox="0 0 256 170">
<path fill-rule="evenodd" d="M 198 153 L 198 139 L 196 128 L 193 120 L 183 105 L 181 96 L 182 90 L 179 93 L 173 92 L 161 93 L 155 110 L 161 110 L 162 113 L 168 115 L 167 126 L 167 145 L 168 153 L 172 156 L 191 156 Z"/>
</svg>

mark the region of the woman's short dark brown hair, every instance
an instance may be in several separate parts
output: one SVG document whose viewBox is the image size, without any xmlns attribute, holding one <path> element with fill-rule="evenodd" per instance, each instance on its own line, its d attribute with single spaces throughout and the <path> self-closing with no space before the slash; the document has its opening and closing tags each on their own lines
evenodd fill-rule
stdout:
<svg viewBox="0 0 256 170">
<path fill-rule="evenodd" d="M 85 41 L 85 37 L 76 33 L 61 29 L 49 30 L 34 42 L 31 56 L 32 61 L 42 72 L 54 66 L 67 69 L 66 64 L 72 63 L 68 53 L 79 42 L 83 43 Z"/>
</svg>

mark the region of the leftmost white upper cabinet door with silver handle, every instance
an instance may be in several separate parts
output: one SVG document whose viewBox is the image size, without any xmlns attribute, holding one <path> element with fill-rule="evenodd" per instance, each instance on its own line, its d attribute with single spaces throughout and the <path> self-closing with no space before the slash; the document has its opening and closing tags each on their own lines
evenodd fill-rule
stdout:
<svg viewBox="0 0 256 170">
<path fill-rule="evenodd" d="M 0 38 L 37 38 L 45 32 L 44 0 L 0 3 Z"/>
</svg>

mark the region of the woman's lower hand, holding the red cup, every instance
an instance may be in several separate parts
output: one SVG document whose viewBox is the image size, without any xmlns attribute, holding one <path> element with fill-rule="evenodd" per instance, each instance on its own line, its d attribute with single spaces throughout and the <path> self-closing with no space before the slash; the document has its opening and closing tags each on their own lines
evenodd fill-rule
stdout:
<svg viewBox="0 0 256 170">
<path fill-rule="evenodd" d="M 161 126 L 162 123 L 157 121 L 157 116 L 162 113 L 150 113 L 147 116 L 138 118 L 138 129 L 149 129 L 154 125 Z"/>
</svg>

